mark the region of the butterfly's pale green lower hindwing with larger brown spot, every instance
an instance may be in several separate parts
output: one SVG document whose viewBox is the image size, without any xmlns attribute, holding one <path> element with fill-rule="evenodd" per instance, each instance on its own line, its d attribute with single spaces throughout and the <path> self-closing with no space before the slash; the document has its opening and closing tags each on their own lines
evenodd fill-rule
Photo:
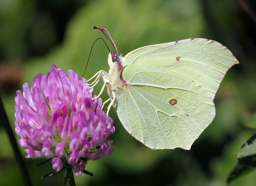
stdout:
<svg viewBox="0 0 256 186">
<path fill-rule="evenodd" d="M 208 92 L 183 75 L 148 65 L 127 65 L 130 85 L 115 92 L 119 120 L 152 149 L 189 149 L 215 115 Z"/>
</svg>

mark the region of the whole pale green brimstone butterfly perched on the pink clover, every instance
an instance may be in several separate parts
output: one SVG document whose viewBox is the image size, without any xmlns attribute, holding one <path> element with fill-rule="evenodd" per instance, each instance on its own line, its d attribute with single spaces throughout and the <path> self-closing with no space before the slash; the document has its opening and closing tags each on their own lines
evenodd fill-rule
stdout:
<svg viewBox="0 0 256 186">
<path fill-rule="evenodd" d="M 213 98 L 228 69 L 238 64 L 235 56 L 216 41 L 197 38 L 141 47 L 122 57 L 108 31 L 93 28 L 115 48 L 109 73 L 99 71 L 94 81 L 102 77 L 108 87 L 108 111 L 113 105 L 127 132 L 151 149 L 189 150 L 214 119 Z"/>
</svg>

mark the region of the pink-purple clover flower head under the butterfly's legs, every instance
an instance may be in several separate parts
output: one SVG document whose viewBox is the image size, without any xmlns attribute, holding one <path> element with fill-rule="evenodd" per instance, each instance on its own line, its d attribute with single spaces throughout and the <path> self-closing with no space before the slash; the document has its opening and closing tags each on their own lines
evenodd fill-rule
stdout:
<svg viewBox="0 0 256 186">
<path fill-rule="evenodd" d="M 14 124 L 26 158 L 53 158 L 55 171 L 70 164 L 82 176 L 87 160 L 109 156 L 112 141 L 104 142 L 115 131 L 113 119 L 92 92 L 76 72 L 67 75 L 55 65 L 34 78 L 31 90 L 24 83 L 23 96 L 18 90 L 15 97 Z"/>
</svg>

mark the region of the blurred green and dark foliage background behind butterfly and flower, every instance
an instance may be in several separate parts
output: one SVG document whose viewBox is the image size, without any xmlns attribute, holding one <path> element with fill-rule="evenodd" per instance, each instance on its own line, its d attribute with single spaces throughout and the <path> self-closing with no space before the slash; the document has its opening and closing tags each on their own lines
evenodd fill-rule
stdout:
<svg viewBox="0 0 256 186">
<path fill-rule="evenodd" d="M 82 76 L 93 42 L 105 39 L 93 26 L 108 29 L 123 55 L 151 44 L 213 39 L 230 49 L 240 64 L 227 72 L 214 99 L 217 115 L 191 150 L 143 146 L 123 129 L 111 108 L 115 150 L 89 161 L 86 170 L 94 177 L 75 179 L 78 186 L 226 185 L 239 148 L 256 129 L 255 13 L 254 0 L 0 0 L 0 91 L 13 131 L 15 91 L 24 82 L 31 86 L 52 64 Z M 105 44 L 97 41 L 84 77 L 108 72 L 107 57 Z M 102 84 L 94 88 L 95 94 Z M 108 99 L 106 89 L 101 98 Z M 0 136 L 0 185 L 23 185 L 2 123 Z M 63 185 L 63 174 L 40 179 L 52 170 L 51 163 L 35 167 L 42 160 L 25 159 L 33 184 Z M 255 185 L 255 177 L 256 171 L 230 185 Z"/>
</svg>

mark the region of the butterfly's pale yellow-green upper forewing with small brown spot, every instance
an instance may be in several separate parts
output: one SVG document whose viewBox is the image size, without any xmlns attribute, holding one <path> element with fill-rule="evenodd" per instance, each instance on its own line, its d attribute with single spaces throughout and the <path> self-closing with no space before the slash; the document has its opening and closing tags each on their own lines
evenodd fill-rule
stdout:
<svg viewBox="0 0 256 186">
<path fill-rule="evenodd" d="M 220 43 L 209 39 L 186 39 L 150 45 L 125 56 L 128 64 L 153 65 L 178 72 L 197 82 L 214 98 L 227 70 L 238 61 Z"/>
</svg>

